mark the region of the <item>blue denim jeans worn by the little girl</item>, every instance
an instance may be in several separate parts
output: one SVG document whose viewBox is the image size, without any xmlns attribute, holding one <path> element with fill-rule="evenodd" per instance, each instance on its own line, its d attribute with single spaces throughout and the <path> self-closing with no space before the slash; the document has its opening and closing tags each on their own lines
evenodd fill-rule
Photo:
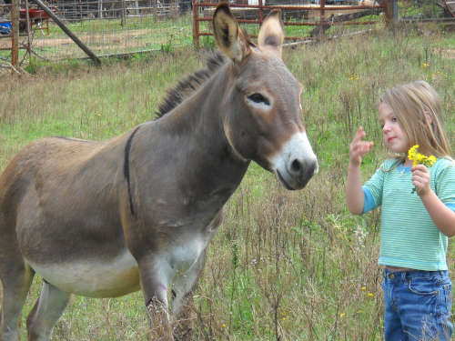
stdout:
<svg viewBox="0 0 455 341">
<path fill-rule="evenodd" d="M 386 341 L 450 340 L 452 284 L 448 271 L 384 269 Z"/>
</svg>

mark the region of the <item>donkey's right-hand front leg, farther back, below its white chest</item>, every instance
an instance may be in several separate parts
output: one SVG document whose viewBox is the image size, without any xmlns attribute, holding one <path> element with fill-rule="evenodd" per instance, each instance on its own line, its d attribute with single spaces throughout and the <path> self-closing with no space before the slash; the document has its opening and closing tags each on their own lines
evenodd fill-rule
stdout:
<svg viewBox="0 0 455 341">
<path fill-rule="evenodd" d="M 172 282 L 172 319 L 174 339 L 191 340 L 193 336 L 193 296 L 199 277 L 207 261 L 207 248 L 199 255 L 197 262 L 183 275 Z"/>
</svg>

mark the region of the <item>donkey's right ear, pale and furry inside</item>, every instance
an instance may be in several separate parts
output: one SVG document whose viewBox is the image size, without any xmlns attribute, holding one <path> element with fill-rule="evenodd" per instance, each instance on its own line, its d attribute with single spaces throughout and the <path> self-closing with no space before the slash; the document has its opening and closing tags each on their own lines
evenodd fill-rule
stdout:
<svg viewBox="0 0 455 341">
<path fill-rule="evenodd" d="M 281 11 L 274 9 L 271 11 L 262 23 L 258 34 L 259 46 L 271 46 L 278 49 L 281 55 L 281 46 L 283 45 L 285 30 L 281 20 Z"/>
</svg>

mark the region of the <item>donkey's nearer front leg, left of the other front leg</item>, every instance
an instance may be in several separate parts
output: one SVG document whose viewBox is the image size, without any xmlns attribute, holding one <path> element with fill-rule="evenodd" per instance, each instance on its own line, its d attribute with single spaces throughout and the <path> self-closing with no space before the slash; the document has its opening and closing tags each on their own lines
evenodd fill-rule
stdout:
<svg viewBox="0 0 455 341">
<path fill-rule="evenodd" d="M 151 326 L 151 339 L 172 341 L 172 327 L 167 307 L 169 266 L 159 256 L 149 256 L 138 262 L 142 294 Z"/>
</svg>

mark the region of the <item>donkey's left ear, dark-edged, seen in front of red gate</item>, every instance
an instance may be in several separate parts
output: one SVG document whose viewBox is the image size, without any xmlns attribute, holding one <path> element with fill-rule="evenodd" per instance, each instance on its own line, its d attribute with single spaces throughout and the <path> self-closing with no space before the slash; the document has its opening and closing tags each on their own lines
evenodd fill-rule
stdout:
<svg viewBox="0 0 455 341">
<path fill-rule="evenodd" d="M 248 40 L 240 32 L 227 3 L 217 5 L 213 15 L 213 34 L 218 48 L 234 62 L 239 62 L 248 55 Z"/>
</svg>

